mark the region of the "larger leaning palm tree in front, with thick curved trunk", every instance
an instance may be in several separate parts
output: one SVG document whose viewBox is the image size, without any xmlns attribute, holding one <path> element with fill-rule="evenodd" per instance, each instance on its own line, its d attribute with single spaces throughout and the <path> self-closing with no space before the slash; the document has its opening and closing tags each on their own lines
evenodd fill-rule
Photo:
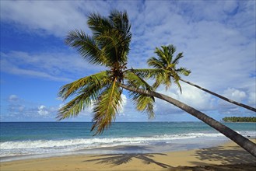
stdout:
<svg viewBox="0 0 256 171">
<path fill-rule="evenodd" d="M 68 33 L 65 42 L 77 49 L 82 58 L 94 65 L 103 65 L 106 71 L 78 79 L 62 86 L 58 96 L 63 100 L 72 98 L 58 111 L 58 120 L 75 117 L 80 111 L 93 105 L 93 126 L 91 131 L 101 134 L 110 127 L 115 114 L 120 110 L 122 89 L 127 89 L 136 105 L 136 109 L 153 117 L 154 97 L 166 100 L 198 119 L 214 127 L 242 148 L 256 156 L 256 145 L 237 132 L 220 124 L 191 106 L 153 91 L 144 81 L 153 75 L 164 75 L 163 69 L 127 69 L 129 44 L 132 39 L 130 24 L 126 12 L 110 12 L 110 16 L 91 14 L 88 19 L 93 35 L 74 30 Z"/>
</svg>

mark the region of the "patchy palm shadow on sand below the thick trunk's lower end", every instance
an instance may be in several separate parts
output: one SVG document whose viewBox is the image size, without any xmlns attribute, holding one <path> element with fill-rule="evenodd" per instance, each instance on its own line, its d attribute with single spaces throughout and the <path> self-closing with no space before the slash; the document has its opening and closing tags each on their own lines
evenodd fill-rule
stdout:
<svg viewBox="0 0 256 171">
<path fill-rule="evenodd" d="M 240 147 L 215 147 L 202 148 L 195 152 L 195 157 L 208 161 L 221 161 L 221 164 L 235 164 L 235 163 L 256 163 L 256 158 L 250 153 L 246 152 Z M 193 164 L 202 165 L 202 163 L 195 162 Z"/>
</svg>

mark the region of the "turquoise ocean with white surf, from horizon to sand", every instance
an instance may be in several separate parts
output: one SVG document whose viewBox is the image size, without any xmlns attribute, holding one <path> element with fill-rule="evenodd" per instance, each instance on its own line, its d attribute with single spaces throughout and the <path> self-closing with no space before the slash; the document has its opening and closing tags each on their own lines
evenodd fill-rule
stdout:
<svg viewBox="0 0 256 171">
<path fill-rule="evenodd" d="M 256 137 L 255 123 L 224 123 Z M 2 122 L 0 159 L 68 154 L 149 153 L 209 148 L 229 139 L 202 122 L 115 122 L 93 136 L 90 122 Z"/>
</svg>

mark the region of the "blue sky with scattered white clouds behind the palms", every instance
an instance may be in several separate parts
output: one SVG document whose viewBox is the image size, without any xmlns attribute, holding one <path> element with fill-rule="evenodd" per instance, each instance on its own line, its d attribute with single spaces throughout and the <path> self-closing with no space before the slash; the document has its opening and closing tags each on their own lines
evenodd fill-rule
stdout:
<svg viewBox="0 0 256 171">
<path fill-rule="evenodd" d="M 68 31 L 90 33 L 91 12 L 107 16 L 126 10 L 132 23 L 128 68 L 147 68 L 146 60 L 161 45 L 184 52 L 180 66 L 191 69 L 184 78 L 250 106 L 255 98 L 255 2 L 253 1 L 1 1 L 1 121 L 55 121 L 64 104 L 58 89 L 104 68 L 89 65 L 64 44 Z M 150 82 L 150 81 L 149 81 Z M 167 92 L 220 120 L 255 113 L 181 84 Z M 117 121 L 148 121 L 135 110 L 127 92 Z M 197 120 L 156 99 L 150 121 Z M 91 121 L 91 109 L 66 121 Z"/>
</svg>

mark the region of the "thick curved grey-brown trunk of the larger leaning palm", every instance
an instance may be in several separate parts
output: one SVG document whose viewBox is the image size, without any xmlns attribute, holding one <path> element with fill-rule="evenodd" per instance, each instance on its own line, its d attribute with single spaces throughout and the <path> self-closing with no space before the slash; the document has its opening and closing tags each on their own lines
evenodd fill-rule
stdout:
<svg viewBox="0 0 256 171">
<path fill-rule="evenodd" d="M 177 99 L 173 99 L 170 96 L 166 96 L 158 92 L 152 92 L 144 89 L 136 89 L 132 86 L 126 86 L 124 84 L 120 84 L 120 86 L 132 92 L 139 92 L 149 96 L 154 96 L 159 99 L 163 99 L 173 104 L 174 106 L 179 107 L 181 110 L 184 110 L 187 113 L 190 113 L 192 116 L 197 117 L 199 120 L 202 120 L 203 122 L 205 122 L 205 124 L 209 124 L 209 126 L 213 127 L 220 133 L 224 134 L 227 138 L 230 138 L 232 141 L 237 143 L 237 145 L 239 145 L 241 148 L 244 148 L 247 152 L 251 153 L 251 155 L 254 155 L 254 157 L 256 157 L 256 144 L 254 144 L 252 141 L 248 140 L 247 138 L 244 138 L 242 135 L 238 134 L 236 131 L 233 131 L 232 129 L 230 129 L 230 127 L 226 127 L 225 125 L 214 120 L 212 117 L 205 115 L 205 113 L 195 110 L 193 107 L 188 106 L 185 103 L 181 103 Z"/>
</svg>

